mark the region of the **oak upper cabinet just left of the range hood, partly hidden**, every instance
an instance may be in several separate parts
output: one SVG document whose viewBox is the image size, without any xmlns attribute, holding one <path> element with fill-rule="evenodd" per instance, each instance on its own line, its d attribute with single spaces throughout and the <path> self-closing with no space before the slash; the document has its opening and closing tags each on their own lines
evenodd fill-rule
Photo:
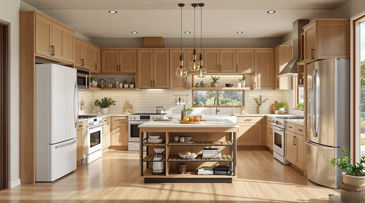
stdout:
<svg viewBox="0 0 365 203">
<path fill-rule="evenodd" d="M 293 77 L 278 77 L 280 71 L 293 59 L 292 45 L 279 45 L 275 48 L 275 89 L 293 89 Z"/>
</svg>

